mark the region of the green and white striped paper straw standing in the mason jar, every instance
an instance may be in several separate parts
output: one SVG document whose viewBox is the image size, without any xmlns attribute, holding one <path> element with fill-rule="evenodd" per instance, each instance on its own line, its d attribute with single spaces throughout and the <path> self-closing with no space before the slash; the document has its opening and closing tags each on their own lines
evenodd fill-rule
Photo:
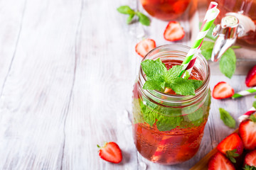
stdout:
<svg viewBox="0 0 256 170">
<path fill-rule="evenodd" d="M 214 8 L 208 9 L 205 17 L 205 22 L 202 24 L 203 28 L 201 28 L 196 38 L 196 41 L 193 43 L 191 50 L 188 51 L 188 54 L 186 55 L 185 59 L 181 64 L 183 65 L 183 70 L 180 76 L 183 74 L 183 72 L 185 72 L 185 70 L 188 70 L 189 74 L 191 73 L 193 65 L 196 62 L 196 56 L 203 43 L 203 38 L 206 37 L 206 34 L 208 33 L 210 26 L 212 26 L 213 21 L 215 21 L 215 18 L 218 16 L 218 13 L 220 12 L 218 8 L 215 7 L 216 6 L 214 6 Z"/>
</svg>

